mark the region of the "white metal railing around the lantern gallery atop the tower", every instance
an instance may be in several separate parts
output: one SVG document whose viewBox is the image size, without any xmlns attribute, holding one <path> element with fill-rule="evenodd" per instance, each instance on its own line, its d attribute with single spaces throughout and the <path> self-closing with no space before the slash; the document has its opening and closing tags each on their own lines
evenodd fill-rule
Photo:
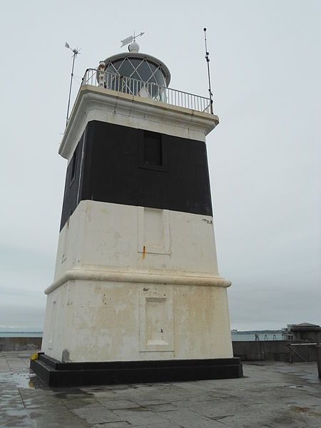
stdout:
<svg viewBox="0 0 321 428">
<path fill-rule="evenodd" d="M 120 76 L 116 73 L 101 71 L 99 68 L 88 68 L 83 76 L 81 85 L 99 86 L 111 91 L 128 93 L 130 95 L 150 98 L 173 106 L 190 108 L 202 113 L 213 114 L 213 104 L 210 98 L 193 95 L 176 89 L 160 86 L 153 82 L 143 82 L 136 78 Z"/>
</svg>

